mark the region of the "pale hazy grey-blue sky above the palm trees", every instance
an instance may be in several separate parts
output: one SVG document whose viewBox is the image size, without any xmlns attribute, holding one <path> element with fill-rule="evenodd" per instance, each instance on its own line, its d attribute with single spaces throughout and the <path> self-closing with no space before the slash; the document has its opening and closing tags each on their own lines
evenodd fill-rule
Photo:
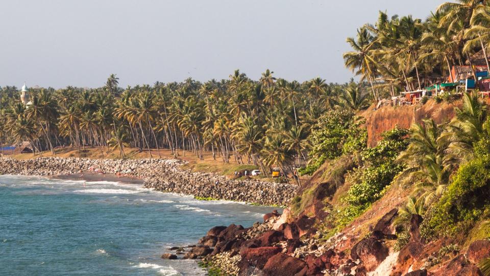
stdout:
<svg viewBox="0 0 490 276">
<path fill-rule="evenodd" d="M 443 0 L 16 0 L 0 5 L 0 86 L 227 79 L 346 82 L 342 60 L 378 11 L 425 19 Z"/>
</svg>

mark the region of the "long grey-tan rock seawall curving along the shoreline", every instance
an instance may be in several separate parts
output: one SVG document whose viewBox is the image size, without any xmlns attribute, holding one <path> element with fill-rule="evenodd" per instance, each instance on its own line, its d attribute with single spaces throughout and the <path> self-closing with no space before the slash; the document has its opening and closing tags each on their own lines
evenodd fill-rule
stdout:
<svg viewBox="0 0 490 276">
<path fill-rule="evenodd" d="M 85 159 L 42 157 L 17 160 L 0 158 L 0 174 L 62 175 L 96 171 L 120 173 L 144 180 L 144 187 L 161 192 L 236 200 L 261 205 L 285 206 L 296 195 L 296 185 L 259 180 L 234 180 L 213 173 L 181 169 L 184 162 L 174 159 Z"/>
</svg>

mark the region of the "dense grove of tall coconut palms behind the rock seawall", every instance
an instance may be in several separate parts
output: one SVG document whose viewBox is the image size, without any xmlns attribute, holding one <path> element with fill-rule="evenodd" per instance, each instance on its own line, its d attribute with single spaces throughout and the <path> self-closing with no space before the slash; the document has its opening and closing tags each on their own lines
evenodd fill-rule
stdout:
<svg viewBox="0 0 490 276">
<path fill-rule="evenodd" d="M 362 84 L 304 83 L 276 79 L 267 70 L 259 81 L 238 70 L 228 80 L 118 87 L 112 75 L 95 89 L 30 89 L 31 104 L 15 87 L 1 89 L 0 144 L 29 141 L 37 154 L 57 146 L 171 149 L 198 158 L 212 152 L 228 163 L 255 164 L 294 172 L 308 161 L 313 125 L 341 107 L 353 114 L 369 105 Z M 346 113 L 347 114 L 347 113 Z M 150 152 L 151 153 L 151 152 Z M 299 179 L 296 179 L 299 182 Z"/>
</svg>

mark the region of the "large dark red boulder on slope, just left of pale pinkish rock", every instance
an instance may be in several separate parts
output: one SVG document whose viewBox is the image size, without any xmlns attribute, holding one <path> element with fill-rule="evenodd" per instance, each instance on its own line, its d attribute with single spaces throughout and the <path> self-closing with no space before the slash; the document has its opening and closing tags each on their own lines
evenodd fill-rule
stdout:
<svg viewBox="0 0 490 276">
<path fill-rule="evenodd" d="M 369 237 L 362 239 L 352 247 L 351 259 L 360 259 L 367 271 L 373 271 L 389 255 L 388 247 L 381 241 Z"/>
</svg>

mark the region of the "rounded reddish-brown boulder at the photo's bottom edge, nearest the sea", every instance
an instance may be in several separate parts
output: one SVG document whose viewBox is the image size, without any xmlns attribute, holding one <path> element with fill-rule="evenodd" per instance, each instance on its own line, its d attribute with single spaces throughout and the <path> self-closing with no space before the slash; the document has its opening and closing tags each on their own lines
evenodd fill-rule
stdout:
<svg viewBox="0 0 490 276">
<path fill-rule="evenodd" d="M 267 260 L 262 270 L 267 276 L 293 276 L 305 266 L 306 263 L 298 258 L 278 253 Z"/>
</svg>

